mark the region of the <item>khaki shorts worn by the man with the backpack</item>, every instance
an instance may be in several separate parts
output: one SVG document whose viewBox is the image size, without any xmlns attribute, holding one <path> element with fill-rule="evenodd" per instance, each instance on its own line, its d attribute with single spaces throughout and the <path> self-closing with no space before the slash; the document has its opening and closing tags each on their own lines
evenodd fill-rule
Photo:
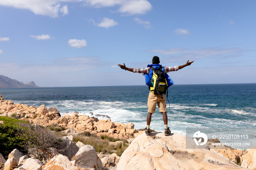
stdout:
<svg viewBox="0 0 256 170">
<path fill-rule="evenodd" d="M 159 108 L 159 112 L 166 112 L 166 101 L 165 101 L 165 94 L 162 94 L 163 98 L 159 94 L 154 94 L 151 91 L 147 97 L 147 107 L 148 113 L 155 113 L 155 106 L 156 103 Z"/>
</svg>

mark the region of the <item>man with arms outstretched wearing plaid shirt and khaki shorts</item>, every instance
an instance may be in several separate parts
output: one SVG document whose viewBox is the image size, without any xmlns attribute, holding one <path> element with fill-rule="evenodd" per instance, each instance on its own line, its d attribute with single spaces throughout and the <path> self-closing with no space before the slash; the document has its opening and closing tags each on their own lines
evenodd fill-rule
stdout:
<svg viewBox="0 0 256 170">
<path fill-rule="evenodd" d="M 186 64 L 181 65 L 181 66 L 174 66 L 174 67 L 163 67 L 163 70 L 165 73 L 169 73 L 172 71 L 178 71 L 179 69 L 182 69 L 186 66 L 189 66 L 193 63 L 194 61 L 189 62 L 187 61 Z M 159 57 L 154 56 L 152 59 L 152 65 L 148 65 L 147 68 L 144 69 L 136 69 L 136 68 L 127 68 L 124 65 L 118 64 L 121 69 L 123 70 L 128 70 L 129 72 L 133 73 L 143 73 L 143 74 L 148 74 L 150 78 L 153 76 L 153 70 L 150 67 L 160 67 L 159 65 L 160 60 Z M 149 92 L 148 94 L 148 101 L 147 101 L 147 106 L 148 106 L 148 115 L 147 115 L 147 127 L 145 128 L 145 133 L 146 135 L 150 135 L 150 122 L 151 122 L 151 116 L 152 113 L 155 113 L 155 106 L 156 103 L 159 107 L 159 112 L 163 114 L 163 123 L 165 124 L 165 136 L 168 136 L 171 134 L 170 128 L 168 127 L 168 119 L 166 115 L 166 101 L 165 101 L 165 94 L 154 94 L 152 91 Z"/>
</svg>

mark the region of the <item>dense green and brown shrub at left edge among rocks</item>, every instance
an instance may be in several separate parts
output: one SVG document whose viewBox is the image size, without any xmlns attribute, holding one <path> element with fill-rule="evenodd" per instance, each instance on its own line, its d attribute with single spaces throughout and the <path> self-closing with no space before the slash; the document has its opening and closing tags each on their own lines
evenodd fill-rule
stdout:
<svg viewBox="0 0 256 170">
<path fill-rule="evenodd" d="M 57 147 L 61 142 L 59 137 L 46 128 L 27 122 L 21 123 L 18 120 L 16 122 L 10 117 L 4 120 L 6 123 L 0 124 L 0 152 L 2 153 L 10 153 L 15 148 L 25 152 L 29 152 L 30 148 L 46 150 L 49 147 Z"/>
</svg>

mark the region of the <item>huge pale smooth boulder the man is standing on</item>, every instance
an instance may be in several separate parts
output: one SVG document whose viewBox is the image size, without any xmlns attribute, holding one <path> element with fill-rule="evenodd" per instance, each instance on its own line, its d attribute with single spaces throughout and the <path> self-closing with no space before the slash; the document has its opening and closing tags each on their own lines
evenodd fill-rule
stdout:
<svg viewBox="0 0 256 170">
<path fill-rule="evenodd" d="M 191 139 L 193 142 L 193 140 Z M 192 143 L 191 142 L 191 143 Z M 118 170 L 129 169 L 242 169 L 229 159 L 209 150 L 186 149 L 186 136 L 151 132 L 135 138 L 123 152 L 117 166 Z"/>
</svg>

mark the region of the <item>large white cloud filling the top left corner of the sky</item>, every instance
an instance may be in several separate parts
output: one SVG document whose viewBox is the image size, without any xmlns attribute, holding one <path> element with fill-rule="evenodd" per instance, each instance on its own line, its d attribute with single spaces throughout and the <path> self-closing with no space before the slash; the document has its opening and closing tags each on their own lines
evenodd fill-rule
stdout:
<svg viewBox="0 0 256 170">
<path fill-rule="evenodd" d="M 68 13 L 67 5 L 60 5 L 60 3 L 67 1 L 74 2 L 74 0 L 1 0 L 0 5 L 18 9 L 27 9 L 34 12 L 36 15 L 46 15 L 56 18 L 59 13 L 62 13 L 63 15 Z"/>
</svg>

